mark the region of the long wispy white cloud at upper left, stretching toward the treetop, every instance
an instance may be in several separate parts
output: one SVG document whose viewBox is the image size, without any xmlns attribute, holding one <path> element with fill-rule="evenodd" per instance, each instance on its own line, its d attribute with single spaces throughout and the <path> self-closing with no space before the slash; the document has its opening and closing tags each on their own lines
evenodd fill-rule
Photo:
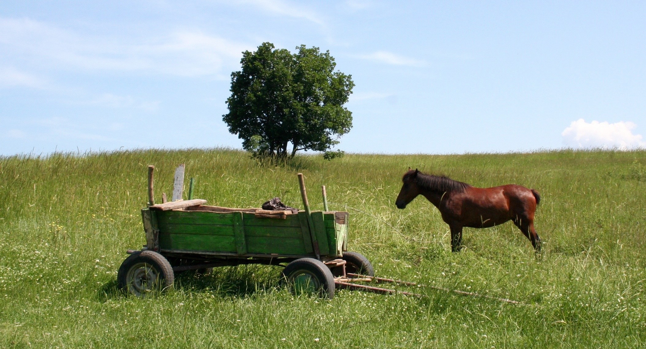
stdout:
<svg viewBox="0 0 646 349">
<path fill-rule="evenodd" d="M 0 18 L 0 50 L 57 68 L 138 70 L 179 76 L 220 74 L 252 45 L 198 30 L 170 32 L 139 43 L 83 36 L 31 19 Z"/>
</svg>

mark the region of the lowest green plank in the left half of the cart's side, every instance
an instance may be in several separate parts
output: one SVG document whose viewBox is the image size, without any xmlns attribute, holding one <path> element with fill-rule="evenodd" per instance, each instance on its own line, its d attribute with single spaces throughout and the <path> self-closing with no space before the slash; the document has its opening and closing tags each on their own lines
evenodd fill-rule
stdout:
<svg viewBox="0 0 646 349">
<path fill-rule="evenodd" d="M 236 242 L 233 236 L 205 238 L 205 235 L 160 233 L 160 247 L 191 251 L 236 252 Z"/>
</svg>

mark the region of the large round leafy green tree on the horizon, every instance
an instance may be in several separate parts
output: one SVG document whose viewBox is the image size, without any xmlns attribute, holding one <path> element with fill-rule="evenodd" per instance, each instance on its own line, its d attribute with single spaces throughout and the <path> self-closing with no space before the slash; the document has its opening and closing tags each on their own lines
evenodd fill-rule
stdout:
<svg viewBox="0 0 646 349">
<path fill-rule="evenodd" d="M 343 106 L 355 85 L 351 76 L 334 71 L 329 51 L 297 50 L 263 43 L 243 52 L 242 70 L 231 73 L 229 113 L 222 120 L 248 151 L 278 157 L 328 151 L 352 127 L 352 113 Z"/>
</svg>

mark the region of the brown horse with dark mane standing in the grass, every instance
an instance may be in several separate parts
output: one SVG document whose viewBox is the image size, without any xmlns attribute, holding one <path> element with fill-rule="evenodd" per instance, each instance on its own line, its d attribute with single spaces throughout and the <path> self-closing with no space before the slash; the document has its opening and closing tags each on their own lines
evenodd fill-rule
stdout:
<svg viewBox="0 0 646 349">
<path fill-rule="evenodd" d="M 541 251 L 541 238 L 534 229 L 534 211 L 541 196 L 534 189 L 507 184 L 477 188 L 445 176 L 424 174 L 409 169 L 402 178 L 402 189 L 395 205 L 404 209 L 417 195 L 424 195 L 442 214 L 451 228 L 451 251 L 461 248 L 463 227 L 493 227 L 513 220 L 536 253 Z"/>
</svg>

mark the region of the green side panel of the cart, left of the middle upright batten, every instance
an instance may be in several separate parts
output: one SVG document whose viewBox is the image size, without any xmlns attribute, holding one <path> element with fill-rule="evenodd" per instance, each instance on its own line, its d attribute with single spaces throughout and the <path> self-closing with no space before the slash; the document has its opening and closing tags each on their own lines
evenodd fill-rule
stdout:
<svg viewBox="0 0 646 349">
<path fill-rule="evenodd" d="M 157 213 L 160 248 L 236 252 L 233 215 L 234 213 L 160 211 Z"/>
</svg>

